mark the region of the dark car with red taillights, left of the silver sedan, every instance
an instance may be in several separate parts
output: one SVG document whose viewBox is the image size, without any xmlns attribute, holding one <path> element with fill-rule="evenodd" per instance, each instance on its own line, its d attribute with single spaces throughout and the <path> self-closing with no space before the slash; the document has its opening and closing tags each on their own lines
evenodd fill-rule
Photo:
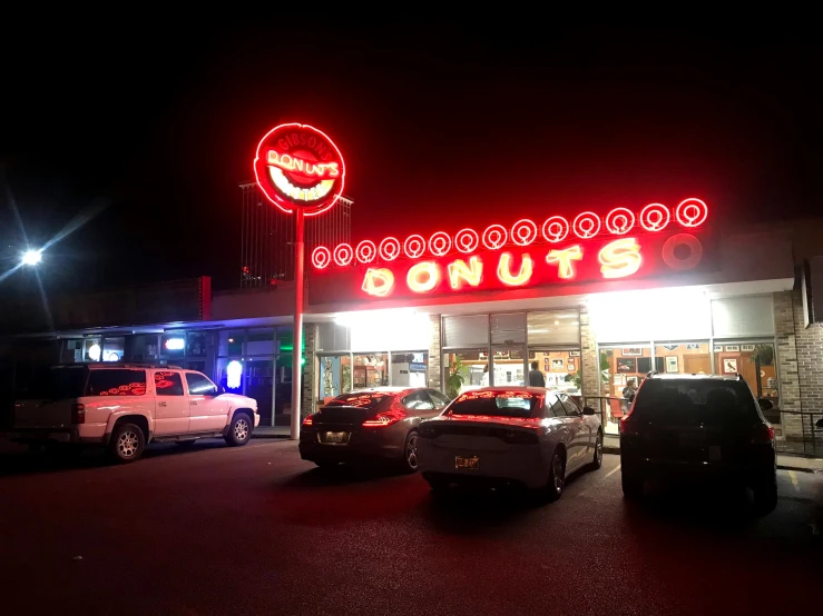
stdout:
<svg viewBox="0 0 823 616">
<path fill-rule="evenodd" d="M 449 398 L 428 387 L 375 387 L 342 394 L 303 420 L 300 455 L 317 466 L 363 459 L 418 469 L 418 426 Z"/>
</svg>

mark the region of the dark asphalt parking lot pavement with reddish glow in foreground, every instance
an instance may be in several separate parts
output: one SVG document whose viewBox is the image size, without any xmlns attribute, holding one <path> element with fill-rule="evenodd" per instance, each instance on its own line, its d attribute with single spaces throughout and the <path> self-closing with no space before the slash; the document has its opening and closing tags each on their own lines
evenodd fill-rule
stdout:
<svg viewBox="0 0 823 616">
<path fill-rule="evenodd" d="M 149 448 L 108 466 L 0 456 L 8 614 L 814 613 L 823 476 L 780 503 L 663 489 L 621 497 L 619 458 L 555 504 L 434 499 L 417 475 L 300 459 L 292 441 Z"/>
</svg>

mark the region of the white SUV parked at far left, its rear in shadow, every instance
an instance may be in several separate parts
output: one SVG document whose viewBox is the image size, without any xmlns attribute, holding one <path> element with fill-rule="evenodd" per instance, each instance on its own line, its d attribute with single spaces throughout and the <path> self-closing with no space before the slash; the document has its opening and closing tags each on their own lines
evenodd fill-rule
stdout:
<svg viewBox="0 0 823 616">
<path fill-rule="evenodd" d="M 14 401 L 18 443 L 107 446 L 130 463 L 148 443 L 190 445 L 222 436 L 245 445 L 259 424 L 253 398 L 225 394 L 205 375 L 176 366 L 53 366 Z"/>
</svg>

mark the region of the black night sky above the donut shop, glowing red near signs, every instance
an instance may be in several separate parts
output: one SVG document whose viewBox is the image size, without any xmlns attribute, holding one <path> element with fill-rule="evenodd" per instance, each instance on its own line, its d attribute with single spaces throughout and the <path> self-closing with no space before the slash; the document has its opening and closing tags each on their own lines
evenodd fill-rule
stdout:
<svg viewBox="0 0 823 616">
<path fill-rule="evenodd" d="M 236 286 L 238 183 L 284 121 L 342 150 L 355 240 L 692 196 L 717 222 L 820 209 L 812 30 L 324 23 L 3 38 L 2 270 L 26 244 L 16 205 L 32 246 L 89 219 L 46 255 L 48 292 Z M 17 271 L 0 292 L 32 284 Z"/>
</svg>

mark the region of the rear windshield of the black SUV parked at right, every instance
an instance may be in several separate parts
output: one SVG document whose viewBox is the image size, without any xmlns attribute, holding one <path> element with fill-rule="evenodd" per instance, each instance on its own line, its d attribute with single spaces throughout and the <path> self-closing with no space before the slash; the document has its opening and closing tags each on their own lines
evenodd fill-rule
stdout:
<svg viewBox="0 0 823 616">
<path fill-rule="evenodd" d="M 743 381 L 649 379 L 638 390 L 631 414 L 662 423 L 699 419 L 717 425 L 753 419 L 757 409 Z"/>
</svg>

